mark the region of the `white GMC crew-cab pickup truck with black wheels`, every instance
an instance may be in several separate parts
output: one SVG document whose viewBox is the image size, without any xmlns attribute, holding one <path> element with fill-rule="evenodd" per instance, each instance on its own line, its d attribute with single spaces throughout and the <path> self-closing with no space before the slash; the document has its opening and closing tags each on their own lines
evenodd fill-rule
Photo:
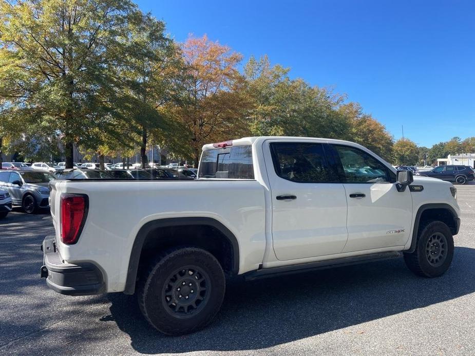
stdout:
<svg viewBox="0 0 475 356">
<path fill-rule="evenodd" d="M 197 180 L 56 180 L 50 200 L 47 285 L 136 293 L 150 324 L 173 335 L 213 319 L 226 276 L 402 255 L 414 273 L 439 276 L 460 226 L 451 183 L 396 172 L 355 143 L 305 137 L 205 145 Z"/>
</svg>

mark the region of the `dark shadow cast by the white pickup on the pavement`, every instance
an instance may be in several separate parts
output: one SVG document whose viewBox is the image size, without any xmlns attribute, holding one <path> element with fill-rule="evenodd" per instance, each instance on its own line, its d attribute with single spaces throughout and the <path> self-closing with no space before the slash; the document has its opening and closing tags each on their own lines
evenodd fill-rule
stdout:
<svg viewBox="0 0 475 356">
<path fill-rule="evenodd" d="M 456 247 L 441 278 L 413 275 L 402 259 L 267 280 L 231 281 L 206 329 L 166 337 L 142 318 L 135 296 L 109 294 L 110 315 L 142 353 L 232 351 L 272 347 L 475 292 L 475 249 Z"/>
</svg>

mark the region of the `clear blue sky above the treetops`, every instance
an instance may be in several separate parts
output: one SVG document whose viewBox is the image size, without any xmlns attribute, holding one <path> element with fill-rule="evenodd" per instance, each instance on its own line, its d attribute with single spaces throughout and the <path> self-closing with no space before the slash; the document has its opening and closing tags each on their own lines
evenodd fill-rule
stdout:
<svg viewBox="0 0 475 356">
<path fill-rule="evenodd" d="M 140 0 L 177 41 L 207 34 L 359 102 L 397 140 L 475 136 L 475 1 Z"/>
</svg>

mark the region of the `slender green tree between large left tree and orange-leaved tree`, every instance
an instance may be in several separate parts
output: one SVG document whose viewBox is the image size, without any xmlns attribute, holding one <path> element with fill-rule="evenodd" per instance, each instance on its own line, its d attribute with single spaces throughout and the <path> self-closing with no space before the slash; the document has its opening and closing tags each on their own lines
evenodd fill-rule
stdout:
<svg viewBox="0 0 475 356">
<path fill-rule="evenodd" d="M 137 128 L 140 137 L 142 168 L 147 164 L 148 140 L 153 134 L 167 130 L 160 108 L 166 104 L 177 104 L 183 94 L 184 63 L 177 44 L 164 34 L 162 22 L 148 17 L 133 33 L 138 52 L 132 58 L 132 65 L 121 73 L 125 84 L 126 112 Z M 157 139 L 157 137 L 154 137 Z M 160 140 L 160 138 L 158 138 Z"/>
</svg>

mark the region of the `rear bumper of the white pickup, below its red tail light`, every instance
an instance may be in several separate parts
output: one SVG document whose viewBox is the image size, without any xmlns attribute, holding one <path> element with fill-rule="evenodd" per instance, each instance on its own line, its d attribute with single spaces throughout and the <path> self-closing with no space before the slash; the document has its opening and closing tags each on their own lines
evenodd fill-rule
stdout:
<svg viewBox="0 0 475 356">
<path fill-rule="evenodd" d="M 90 295 L 105 291 L 101 270 L 90 262 L 65 263 L 55 247 L 53 236 L 46 236 L 42 245 L 44 265 L 41 277 L 52 290 L 67 295 Z"/>
</svg>

